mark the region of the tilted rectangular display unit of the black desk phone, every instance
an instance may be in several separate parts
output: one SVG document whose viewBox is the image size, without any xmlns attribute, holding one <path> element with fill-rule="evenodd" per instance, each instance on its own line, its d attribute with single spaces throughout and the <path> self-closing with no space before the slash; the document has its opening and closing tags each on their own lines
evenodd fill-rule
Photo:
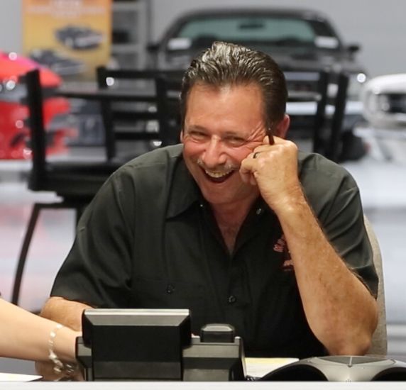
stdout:
<svg viewBox="0 0 406 390">
<path fill-rule="evenodd" d="M 87 309 L 77 360 L 88 381 L 180 380 L 190 335 L 188 310 Z"/>
</svg>

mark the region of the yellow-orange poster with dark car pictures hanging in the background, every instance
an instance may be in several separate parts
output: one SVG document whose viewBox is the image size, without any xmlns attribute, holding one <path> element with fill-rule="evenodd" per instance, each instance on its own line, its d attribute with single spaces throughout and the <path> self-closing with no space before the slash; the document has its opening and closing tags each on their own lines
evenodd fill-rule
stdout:
<svg viewBox="0 0 406 390">
<path fill-rule="evenodd" d="M 23 54 L 64 79 L 94 79 L 111 48 L 111 0 L 23 0 Z"/>
</svg>

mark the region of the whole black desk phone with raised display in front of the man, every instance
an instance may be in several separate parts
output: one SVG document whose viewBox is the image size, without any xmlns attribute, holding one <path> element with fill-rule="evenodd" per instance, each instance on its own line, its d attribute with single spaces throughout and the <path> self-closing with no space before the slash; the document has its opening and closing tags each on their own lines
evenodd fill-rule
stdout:
<svg viewBox="0 0 406 390">
<path fill-rule="evenodd" d="M 87 381 L 246 379 L 234 328 L 209 324 L 192 336 L 189 310 L 87 309 L 76 357 Z"/>
</svg>

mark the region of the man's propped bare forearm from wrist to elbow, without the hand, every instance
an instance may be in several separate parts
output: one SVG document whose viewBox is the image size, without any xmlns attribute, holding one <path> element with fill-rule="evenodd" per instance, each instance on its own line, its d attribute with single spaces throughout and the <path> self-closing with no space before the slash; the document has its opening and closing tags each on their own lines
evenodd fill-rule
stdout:
<svg viewBox="0 0 406 390">
<path fill-rule="evenodd" d="M 334 355 L 361 355 L 377 321 L 375 299 L 319 227 L 301 189 L 277 212 L 310 328 Z"/>
</svg>

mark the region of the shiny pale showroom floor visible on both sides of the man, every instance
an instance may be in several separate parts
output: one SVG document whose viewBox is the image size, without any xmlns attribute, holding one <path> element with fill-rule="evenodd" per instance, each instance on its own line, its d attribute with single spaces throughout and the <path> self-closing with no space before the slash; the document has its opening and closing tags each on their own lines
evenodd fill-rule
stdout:
<svg viewBox="0 0 406 390">
<path fill-rule="evenodd" d="M 366 216 L 373 224 L 383 253 L 388 355 L 406 361 L 406 160 L 403 157 L 406 142 L 388 141 L 383 145 L 373 138 L 367 142 L 371 150 L 366 157 L 343 165 L 360 186 Z M 33 202 L 56 199 L 53 194 L 26 189 L 29 169 L 29 162 L 0 161 L 0 291 L 4 299 L 11 296 L 18 251 Z M 42 306 L 73 237 L 73 211 L 41 213 L 28 253 L 21 306 L 31 311 Z M 31 374 L 34 369 L 32 363 L 0 359 L 0 372 Z"/>
</svg>

